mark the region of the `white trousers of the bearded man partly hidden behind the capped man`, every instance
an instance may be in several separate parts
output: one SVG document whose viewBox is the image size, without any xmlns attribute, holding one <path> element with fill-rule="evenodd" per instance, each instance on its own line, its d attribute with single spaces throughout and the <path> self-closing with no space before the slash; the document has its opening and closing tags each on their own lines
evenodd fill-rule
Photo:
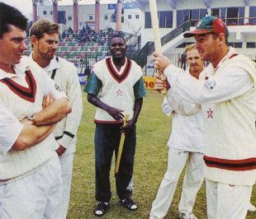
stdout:
<svg viewBox="0 0 256 219">
<path fill-rule="evenodd" d="M 159 186 L 157 196 L 152 203 L 151 218 L 163 218 L 168 212 L 178 178 L 186 165 L 186 161 L 187 169 L 183 179 L 183 192 L 178 204 L 178 211 L 192 212 L 197 192 L 201 188 L 204 177 L 203 154 L 169 147 L 168 168 Z"/>
</svg>

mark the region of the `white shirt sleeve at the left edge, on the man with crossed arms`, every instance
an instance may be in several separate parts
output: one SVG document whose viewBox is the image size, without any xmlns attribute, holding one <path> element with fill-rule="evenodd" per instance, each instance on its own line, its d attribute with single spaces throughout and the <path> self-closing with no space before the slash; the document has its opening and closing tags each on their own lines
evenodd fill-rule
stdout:
<svg viewBox="0 0 256 219">
<path fill-rule="evenodd" d="M 0 153 L 7 154 L 17 141 L 22 128 L 23 124 L 0 103 Z"/>
</svg>

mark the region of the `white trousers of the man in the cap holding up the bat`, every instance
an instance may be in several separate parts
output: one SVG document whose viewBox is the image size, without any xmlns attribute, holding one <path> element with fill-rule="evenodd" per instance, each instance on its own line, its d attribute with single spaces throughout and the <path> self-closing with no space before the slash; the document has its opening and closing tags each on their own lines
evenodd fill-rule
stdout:
<svg viewBox="0 0 256 219">
<path fill-rule="evenodd" d="M 208 219 L 244 219 L 252 185 L 232 185 L 206 179 Z"/>
</svg>

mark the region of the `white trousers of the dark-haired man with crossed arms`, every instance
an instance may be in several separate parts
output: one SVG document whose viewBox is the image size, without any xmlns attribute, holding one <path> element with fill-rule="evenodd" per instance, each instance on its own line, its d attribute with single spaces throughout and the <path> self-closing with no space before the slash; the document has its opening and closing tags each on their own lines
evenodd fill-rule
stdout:
<svg viewBox="0 0 256 219">
<path fill-rule="evenodd" d="M 0 185 L 0 219 L 59 218 L 62 179 L 54 154 L 39 170 Z"/>
</svg>

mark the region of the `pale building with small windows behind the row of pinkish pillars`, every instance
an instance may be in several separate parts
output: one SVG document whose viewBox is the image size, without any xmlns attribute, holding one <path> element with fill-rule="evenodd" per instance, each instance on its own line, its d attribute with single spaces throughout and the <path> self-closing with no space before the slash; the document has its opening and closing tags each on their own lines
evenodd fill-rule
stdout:
<svg viewBox="0 0 256 219">
<path fill-rule="evenodd" d="M 69 5 L 58 4 L 59 23 L 63 30 L 73 29 L 73 1 Z M 92 1 L 91 1 L 92 2 Z M 116 30 L 116 3 L 101 4 L 100 7 L 100 30 L 111 27 Z M 122 31 L 135 34 L 136 30 L 144 25 L 144 12 L 134 3 L 123 3 Z M 38 19 L 47 18 L 53 20 L 53 7 L 49 1 L 38 3 Z M 144 19 L 144 18 L 143 18 Z M 94 30 L 95 4 L 87 4 L 86 1 L 78 2 L 78 29 L 90 26 Z"/>
</svg>

